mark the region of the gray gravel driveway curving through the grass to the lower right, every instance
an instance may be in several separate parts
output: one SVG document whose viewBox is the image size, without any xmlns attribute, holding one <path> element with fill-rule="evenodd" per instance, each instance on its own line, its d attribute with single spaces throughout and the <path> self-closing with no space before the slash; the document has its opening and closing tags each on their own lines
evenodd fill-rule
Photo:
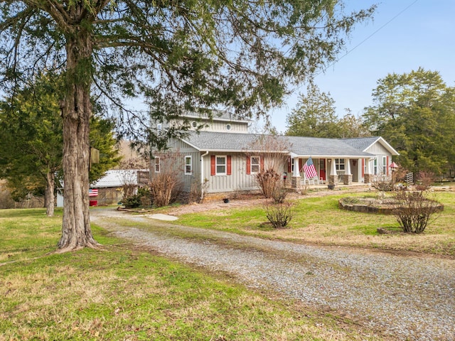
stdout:
<svg viewBox="0 0 455 341">
<path fill-rule="evenodd" d="M 122 227 L 119 218 L 210 239 Z M 92 210 L 91 219 L 165 256 L 225 271 L 249 287 L 277 291 L 316 309 L 338 310 L 396 340 L 455 340 L 453 259 L 269 241 L 115 210 Z"/>
</svg>

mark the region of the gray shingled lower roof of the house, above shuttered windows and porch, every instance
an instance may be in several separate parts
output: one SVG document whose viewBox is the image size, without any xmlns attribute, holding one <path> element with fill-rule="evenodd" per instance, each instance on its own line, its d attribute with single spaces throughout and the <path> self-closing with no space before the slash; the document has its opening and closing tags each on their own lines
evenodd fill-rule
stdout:
<svg viewBox="0 0 455 341">
<path fill-rule="evenodd" d="M 215 131 L 200 131 L 191 133 L 183 139 L 186 143 L 200 151 L 245 151 L 256 141 L 259 134 L 236 134 Z M 358 148 L 354 148 L 340 139 L 320 139 L 303 136 L 279 136 L 279 139 L 289 141 L 289 152 L 301 157 L 355 157 L 372 156 Z"/>
</svg>

